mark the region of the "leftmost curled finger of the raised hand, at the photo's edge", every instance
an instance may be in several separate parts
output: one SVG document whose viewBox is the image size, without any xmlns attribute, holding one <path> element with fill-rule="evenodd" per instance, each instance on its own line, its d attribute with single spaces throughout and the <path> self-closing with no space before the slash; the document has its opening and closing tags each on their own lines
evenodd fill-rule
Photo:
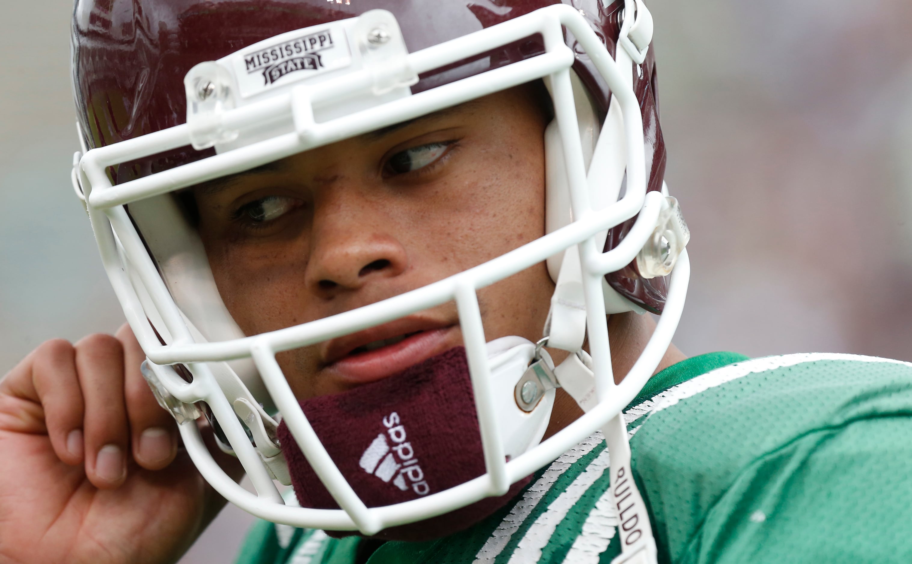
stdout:
<svg viewBox="0 0 912 564">
<path fill-rule="evenodd" d="M 55 339 L 38 346 L 6 375 L 0 394 L 5 428 L 47 432 L 60 460 L 82 463 L 82 392 L 72 344 Z"/>
</svg>

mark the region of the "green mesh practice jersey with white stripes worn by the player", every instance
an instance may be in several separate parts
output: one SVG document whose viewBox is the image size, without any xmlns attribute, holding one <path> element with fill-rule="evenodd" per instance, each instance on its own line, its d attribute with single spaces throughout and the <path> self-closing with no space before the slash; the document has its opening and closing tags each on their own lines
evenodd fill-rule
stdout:
<svg viewBox="0 0 912 564">
<path fill-rule="evenodd" d="M 912 364 L 704 354 L 656 374 L 625 417 L 659 562 L 912 562 Z M 490 518 L 368 563 L 610 562 L 608 467 L 596 433 Z M 364 542 L 260 522 L 237 562 L 353 564 Z"/>
</svg>

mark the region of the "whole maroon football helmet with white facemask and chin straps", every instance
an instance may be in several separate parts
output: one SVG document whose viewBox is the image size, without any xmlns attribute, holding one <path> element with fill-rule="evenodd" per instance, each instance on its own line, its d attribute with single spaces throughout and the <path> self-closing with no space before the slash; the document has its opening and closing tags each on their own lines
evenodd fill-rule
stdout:
<svg viewBox="0 0 912 564">
<path fill-rule="evenodd" d="M 664 185 L 652 17 L 641 0 L 78 0 L 72 30 L 83 144 L 74 190 L 147 355 L 143 374 L 224 497 L 278 523 L 372 535 L 503 496 L 598 429 L 612 483 L 632 485 L 620 413 L 667 350 L 689 281 L 689 231 Z M 356 310 L 241 332 L 177 190 L 538 79 L 554 107 L 540 239 Z M 556 284 L 544 339 L 487 343 L 476 291 L 542 261 Z M 368 507 L 275 354 L 449 301 L 483 470 L 439 490 L 412 479 L 410 497 Z M 661 316 L 616 385 L 606 313 L 628 311 Z M 571 354 L 554 366 L 543 344 Z M 559 386 L 586 414 L 542 442 Z M 202 413 L 255 494 L 214 462 L 193 423 Z M 395 443 L 388 428 L 384 441 Z M 289 440 L 337 508 L 285 504 L 274 480 L 294 481 Z M 385 453 L 372 443 L 356 462 L 380 476 Z M 620 491 L 618 509 L 630 508 L 625 558 L 654 555 L 636 486 Z"/>
</svg>

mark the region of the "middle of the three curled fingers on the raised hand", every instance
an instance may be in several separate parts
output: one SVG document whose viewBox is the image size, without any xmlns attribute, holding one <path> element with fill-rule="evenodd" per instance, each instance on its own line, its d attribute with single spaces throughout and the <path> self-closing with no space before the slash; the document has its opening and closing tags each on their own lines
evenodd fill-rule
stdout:
<svg viewBox="0 0 912 564">
<path fill-rule="evenodd" d="M 127 477 L 130 438 L 123 347 L 111 335 L 89 335 L 76 344 L 76 369 L 85 402 L 86 475 L 95 487 L 118 487 Z"/>
</svg>

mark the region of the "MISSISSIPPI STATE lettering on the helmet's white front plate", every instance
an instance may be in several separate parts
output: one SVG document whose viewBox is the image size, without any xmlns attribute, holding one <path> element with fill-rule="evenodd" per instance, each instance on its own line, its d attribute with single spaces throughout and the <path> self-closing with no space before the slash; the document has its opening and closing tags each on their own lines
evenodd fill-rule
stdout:
<svg viewBox="0 0 912 564">
<path fill-rule="evenodd" d="M 289 73 L 323 67 L 318 53 L 333 46 L 333 36 L 325 29 L 245 55 L 244 68 L 248 75 L 262 73 L 264 84 L 269 85 Z"/>
</svg>

